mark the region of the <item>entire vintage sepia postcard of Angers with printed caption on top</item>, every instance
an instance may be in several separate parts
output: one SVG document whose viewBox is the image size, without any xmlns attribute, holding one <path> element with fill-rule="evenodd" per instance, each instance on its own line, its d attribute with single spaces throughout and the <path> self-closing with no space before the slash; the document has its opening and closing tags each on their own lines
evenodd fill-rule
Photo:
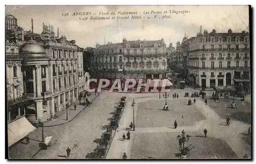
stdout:
<svg viewBox="0 0 256 164">
<path fill-rule="evenodd" d="M 6 6 L 9 159 L 251 159 L 250 6 Z"/>
</svg>

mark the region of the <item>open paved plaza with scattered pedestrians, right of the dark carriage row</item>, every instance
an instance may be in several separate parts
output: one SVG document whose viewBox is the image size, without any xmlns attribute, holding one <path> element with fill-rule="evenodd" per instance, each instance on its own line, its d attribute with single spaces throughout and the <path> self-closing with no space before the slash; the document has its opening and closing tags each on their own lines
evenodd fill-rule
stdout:
<svg viewBox="0 0 256 164">
<path fill-rule="evenodd" d="M 120 159 L 126 152 L 130 159 L 178 159 L 177 135 L 182 130 L 191 135 L 186 145 L 194 146 L 187 158 L 243 158 L 245 154 L 251 157 L 250 136 L 246 135 L 250 124 L 231 120 L 230 126 L 226 126 L 225 117 L 210 105 L 205 105 L 204 99 L 196 98 L 195 104 L 186 105 L 189 98 L 184 97 L 185 91 L 191 93 L 197 90 L 186 88 L 169 92 L 169 95 L 175 92 L 180 95 L 179 99 L 167 99 L 170 111 L 162 110 L 165 100 L 159 99 L 158 93 L 127 94 L 126 97 L 136 102 L 136 130 L 130 131 L 130 140 L 120 139 L 123 133 L 127 133 L 125 128 L 129 127 L 133 118 L 132 102 L 127 102 L 106 158 Z M 221 103 L 218 105 L 219 108 L 223 107 Z M 178 122 L 177 129 L 173 127 L 175 120 Z M 208 131 L 207 138 L 202 137 L 205 128 Z"/>
</svg>

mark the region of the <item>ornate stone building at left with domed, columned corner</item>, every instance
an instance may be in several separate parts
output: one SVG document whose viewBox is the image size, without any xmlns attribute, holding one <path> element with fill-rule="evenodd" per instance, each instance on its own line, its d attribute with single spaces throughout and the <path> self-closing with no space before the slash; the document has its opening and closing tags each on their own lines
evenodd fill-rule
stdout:
<svg viewBox="0 0 256 164">
<path fill-rule="evenodd" d="M 8 119 L 25 114 L 32 123 L 47 121 L 78 99 L 77 45 L 55 36 L 53 26 L 43 24 L 42 33 L 36 34 L 16 22 L 6 16 Z"/>
</svg>

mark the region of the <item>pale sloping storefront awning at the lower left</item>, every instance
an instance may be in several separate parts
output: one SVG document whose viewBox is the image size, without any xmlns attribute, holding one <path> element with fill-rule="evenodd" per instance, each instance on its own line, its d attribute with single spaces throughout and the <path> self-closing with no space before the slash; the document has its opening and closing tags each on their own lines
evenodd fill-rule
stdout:
<svg viewBox="0 0 256 164">
<path fill-rule="evenodd" d="M 8 147 L 34 131 L 36 128 L 23 116 L 8 124 Z"/>
</svg>

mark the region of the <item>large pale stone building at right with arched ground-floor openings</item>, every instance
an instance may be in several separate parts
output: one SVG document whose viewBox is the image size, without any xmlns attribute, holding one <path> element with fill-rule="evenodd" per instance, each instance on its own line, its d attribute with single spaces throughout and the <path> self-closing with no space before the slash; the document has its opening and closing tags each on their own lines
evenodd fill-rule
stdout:
<svg viewBox="0 0 256 164">
<path fill-rule="evenodd" d="M 205 88 L 250 87 L 249 33 L 198 33 L 189 43 L 189 80 Z"/>
</svg>

